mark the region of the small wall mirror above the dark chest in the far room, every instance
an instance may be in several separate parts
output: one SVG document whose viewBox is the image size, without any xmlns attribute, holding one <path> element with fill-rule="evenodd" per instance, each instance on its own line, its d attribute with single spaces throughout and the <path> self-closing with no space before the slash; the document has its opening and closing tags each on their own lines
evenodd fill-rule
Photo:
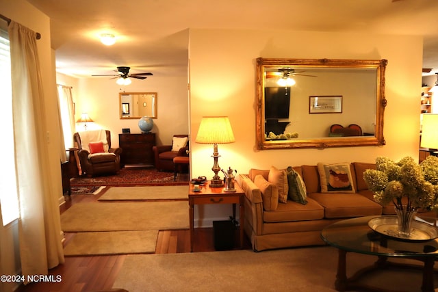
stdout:
<svg viewBox="0 0 438 292">
<path fill-rule="evenodd" d="M 157 118 L 157 92 L 120 92 L 120 119 Z"/>
</svg>

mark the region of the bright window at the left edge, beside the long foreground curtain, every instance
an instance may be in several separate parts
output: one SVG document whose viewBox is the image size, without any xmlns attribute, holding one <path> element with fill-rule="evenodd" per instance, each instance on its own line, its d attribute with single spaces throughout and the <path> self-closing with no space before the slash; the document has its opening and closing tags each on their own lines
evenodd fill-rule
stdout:
<svg viewBox="0 0 438 292">
<path fill-rule="evenodd" d="M 12 122 L 12 84 L 8 23 L 0 20 L 0 115 L 2 141 L 0 153 L 3 174 L 0 176 L 0 207 L 3 226 L 18 218 L 18 194 L 14 155 L 14 125 Z"/>
</svg>

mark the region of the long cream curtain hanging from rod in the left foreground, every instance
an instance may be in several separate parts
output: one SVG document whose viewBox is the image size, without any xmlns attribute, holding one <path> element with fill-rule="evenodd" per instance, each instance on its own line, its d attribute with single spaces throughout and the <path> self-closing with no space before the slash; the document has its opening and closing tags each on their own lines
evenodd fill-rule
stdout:
<svg viewBox="0 0 438 292">
<path fill-rule="evenodd" d="M 25 276 L 47 274 L 64 254 L 57 199 L 44 177 L 50 165 L 36 33 L 11 21 L 9 34 L 21 269 Z"/>
</svg>

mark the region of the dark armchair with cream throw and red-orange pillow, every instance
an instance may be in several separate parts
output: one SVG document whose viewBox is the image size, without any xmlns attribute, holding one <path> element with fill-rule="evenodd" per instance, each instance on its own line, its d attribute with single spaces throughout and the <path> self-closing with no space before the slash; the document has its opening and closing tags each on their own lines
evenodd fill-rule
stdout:
<svg viewBox="0 0 438 292">
<path fill-rule="evenodd" d="M 83 131 L 75 133 L 73 138 L 79 149 L 82 174 L 91 177 L 99 174 L 116 174 L 120 170 L 122 148 L 111 148 L 110 131 Z"/>
</svg>

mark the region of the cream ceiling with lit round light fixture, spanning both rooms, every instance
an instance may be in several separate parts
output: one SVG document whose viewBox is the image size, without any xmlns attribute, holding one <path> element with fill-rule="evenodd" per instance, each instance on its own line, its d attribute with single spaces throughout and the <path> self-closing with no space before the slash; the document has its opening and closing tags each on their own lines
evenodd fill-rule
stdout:
<svg viewBox="0 0 438 292">
<path fill-rule="evenodd" d="M 57 71 L 73 77 L 114 74 L 116 66 L 130 66 L 131 73 L 185 76 L 191 28 L 420 35 L 423 68 L 438 72 L 435 0 L 27 1 L 51 18 Z M 115 34 L 116 44 L 101 44 L 104 32 Z"/>
</svg>

